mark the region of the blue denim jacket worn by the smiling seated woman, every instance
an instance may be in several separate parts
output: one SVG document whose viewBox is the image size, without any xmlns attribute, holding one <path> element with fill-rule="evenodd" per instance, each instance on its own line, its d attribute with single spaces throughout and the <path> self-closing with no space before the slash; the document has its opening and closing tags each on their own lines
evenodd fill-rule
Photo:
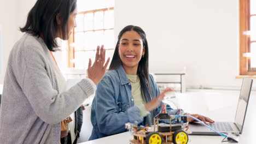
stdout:
<svg viewBox="0 0 256 144">
<path fill-rule="evenodd" d="M 152 75 L 149 80 L 152 96 L 155 98 L 160 91 Z M 149 91 L 147 91 L 146 97 L 150 101 Z M 98 83 L 95 98 L 92 101 L 91 123 L 94 128 L 89 140 L 123 133 L 127 131 L 125 123 L 128 122 L 152 125 L 153 118 L 160 112 L 160 108 L 161 106 L 151 111 L 147 117 L 142 118 L 138 107 L 134 105 L 131 83 L 124 68 L 120 66 L 118 69 L 107 71 L 101 82 Z M 171 115 L 177 113 L 177 110 L 171 109 L 169 105 L 166 109 Z"/>
</svg>

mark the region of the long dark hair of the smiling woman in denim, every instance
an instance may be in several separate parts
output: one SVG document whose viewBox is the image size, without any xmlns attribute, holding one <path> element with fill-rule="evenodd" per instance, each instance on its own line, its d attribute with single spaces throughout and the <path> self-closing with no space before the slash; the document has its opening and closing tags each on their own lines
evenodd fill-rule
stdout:
<svg viewBox="0 0 256 144">
<path fill-rule="evenodd" d="M 115 46 L 115 51 L 114 51 L 114 55 L 113 55 L 112 61 L 109 66 L 109 70 L 117 69 L 120 67 L 120 65 L 123 64 L 121 61 L 121 58 L 118 54 L 118 47 L 119 47 L 119 42 L 120 42 L 122 35 L 127 31 L 137 32 L 141 36 L 143 46 L 145 48 L 144 57 L 141 58 L 141 61 L 139 61 L 139 64 L 138 64 L 137 74 L 138 74 L 138 77 L 139 77 L 139 80 L 141 83 L 141 91 L 143 92 L 143 99 L 146 102 L 148 102 L 148 101 L 152 100 L 153 97 L 152 97 L 151 85 L 150 85 L 150 81 L 149 81 L 149 70 L 148 70 L 148 41 L 146 39 L 146 33 L 142 30 L 142 28 L 140 28 L 138 26 L 129 25 L 121 30 L 121 32 L 118 35 L 118 42 L 117 42 L 117 45 Z M 148 86 L 146 83 L 148 83 Z M 147 89 L 147 87 L 148 87 L 148 89 Z M 150 99 L 148 99 L 148 97 L 146 97 L 147 90 L 149 91 Z"/>
</svg>

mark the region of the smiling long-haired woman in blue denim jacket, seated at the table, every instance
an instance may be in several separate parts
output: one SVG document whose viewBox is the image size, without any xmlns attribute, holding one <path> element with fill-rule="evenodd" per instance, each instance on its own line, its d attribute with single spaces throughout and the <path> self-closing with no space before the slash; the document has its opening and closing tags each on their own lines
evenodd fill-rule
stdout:
<svg viewBox="0 0 256 144">
<path fill-rule="evenodd" d="M 172 89 L 160 94 L 152 75 L 149 75 L 148 56 L 146 34 L 140 27 L 126 26 L 121 30 L 109 71 L 98 83 L 92 102 L 94 128 L 90 140 L 122 133 L 126 131 L 124 125 L 127 122 L 153 124 L 165 92 Z M 170 115 L 179 112 L 170 106 L 167 111 Z M 210 118 L 194 116 L 213 123 Z"/>
</svg>

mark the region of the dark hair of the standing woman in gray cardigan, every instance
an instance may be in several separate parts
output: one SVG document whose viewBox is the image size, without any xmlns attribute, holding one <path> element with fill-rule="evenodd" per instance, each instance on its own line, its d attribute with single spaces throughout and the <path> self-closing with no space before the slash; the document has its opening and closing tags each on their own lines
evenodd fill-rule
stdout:
<svg viewBox="0 0 256 144">
<path fill-rule="evenodd" d="M 59 50 L 55 39 L 57 32 L 61 31 L 62 37 L 67 37 L 69 15 L 76 7 L 77 0 L 38 0 L 28 13 L 26 25 L 20 31 L 37 37 L 42 34 L 50 51 Z M 60 26 L 57 25 L 57 14 L 60 14 Z"/>
</svg>

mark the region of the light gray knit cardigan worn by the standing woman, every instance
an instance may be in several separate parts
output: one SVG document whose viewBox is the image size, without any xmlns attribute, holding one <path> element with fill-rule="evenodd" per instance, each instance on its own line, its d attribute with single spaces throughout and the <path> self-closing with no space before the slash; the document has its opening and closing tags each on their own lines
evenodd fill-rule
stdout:
<svg viewBox="0 0 256 144">
<path fill-rule="evenodd" d="M 60 122 L 95 92 L 66 83 L 43 39 L 24 34 L 10 52 L 0 107 L 0 143 L 60 142 Z"/>
</svg>

